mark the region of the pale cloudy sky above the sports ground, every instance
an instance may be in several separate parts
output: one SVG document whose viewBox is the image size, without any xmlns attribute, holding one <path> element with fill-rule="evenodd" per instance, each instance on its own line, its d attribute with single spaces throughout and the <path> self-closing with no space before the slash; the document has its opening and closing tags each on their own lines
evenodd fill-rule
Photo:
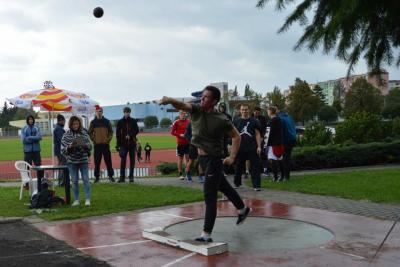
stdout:
<svg viewBox="0 0 400 267">
<path fill-rule="evenodd" d="M 273 2 L 259 10 L 255 0 L 3 1 L 0 101 L 45 80 L 110 105 L 188 96 L 219 81 L 264 95 L 296 77 L 345 76 L 333 55 L 292 51 L 302 31 L 277 35 L 287 13 Z M 399 69 L 385 67 L 400 79 Z M 365 71 L 361 60 L 355 72 Z"/>
</svg>

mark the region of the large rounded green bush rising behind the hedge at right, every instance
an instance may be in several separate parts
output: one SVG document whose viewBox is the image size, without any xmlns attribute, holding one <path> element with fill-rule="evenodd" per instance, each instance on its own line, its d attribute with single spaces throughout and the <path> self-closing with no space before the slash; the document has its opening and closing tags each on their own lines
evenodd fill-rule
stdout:
<svg viewBox="0 0 400 267">
<path fill-rule="evenodd" d="M 368 112 L 357 112 L 336 127 L 335 143 L 379 141 L 383 137 L 381 118 Z"/>
</svg>

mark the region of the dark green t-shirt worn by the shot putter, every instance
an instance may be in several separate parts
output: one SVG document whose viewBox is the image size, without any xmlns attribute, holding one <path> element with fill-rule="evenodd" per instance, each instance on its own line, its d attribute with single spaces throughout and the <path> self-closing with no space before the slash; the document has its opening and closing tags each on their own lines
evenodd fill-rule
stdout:
<svg viewBox="0 0 400 267">
<path fill-rule="evenodd" d="M 207 113 L 199 105 L 192 105 L 192 144 L 208 155 L 222 156 L 224 134 L 232 130 L 232 122 L 216 110 Z"/>
</svg>

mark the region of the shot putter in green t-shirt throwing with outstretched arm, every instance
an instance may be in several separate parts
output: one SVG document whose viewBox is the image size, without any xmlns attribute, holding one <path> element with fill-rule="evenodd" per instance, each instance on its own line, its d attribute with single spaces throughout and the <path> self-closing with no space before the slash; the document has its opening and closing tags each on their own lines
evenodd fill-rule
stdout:
<svg viewBox="0 0 400 267">
<path fill-rule="evenodd" d="M 224 114 L 216 111 L 221 93 L 214 86 L 203 90 L 200 105 L 189 104 L 164 96 L 161 105 L 172 104 L 175 108 L 191 113 L 192 144 L 197 147 L 199 162 L 205 170 L 204 199 L 206 204 L 204 227 L 200 242 L 212 242 L 211 233 L 217 217 L 218 191 L 233 203 L 238 210 L 239 225 L 249 215 L 251 209 L 243 203 L 239 194 L 232 188 L 223 174 L 223 164 L 232 164 L 240 146 L 240 135 Z M 232 151 L 229 157 L 223 159 L 223 137 L 227 133 L 232 138 Z"/>
</svg>

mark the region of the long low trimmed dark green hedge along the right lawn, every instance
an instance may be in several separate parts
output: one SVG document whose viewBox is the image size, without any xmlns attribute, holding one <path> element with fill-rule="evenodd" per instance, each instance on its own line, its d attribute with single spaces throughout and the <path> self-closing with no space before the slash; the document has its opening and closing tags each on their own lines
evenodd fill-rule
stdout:
<svg viewBox="0 0 400 267">
<path fill-rule="evenodd" d="M 353 167 L 400 162 L 400 140 L 353 145 L 295 147 L 293 170 Z"/>
</svg>

